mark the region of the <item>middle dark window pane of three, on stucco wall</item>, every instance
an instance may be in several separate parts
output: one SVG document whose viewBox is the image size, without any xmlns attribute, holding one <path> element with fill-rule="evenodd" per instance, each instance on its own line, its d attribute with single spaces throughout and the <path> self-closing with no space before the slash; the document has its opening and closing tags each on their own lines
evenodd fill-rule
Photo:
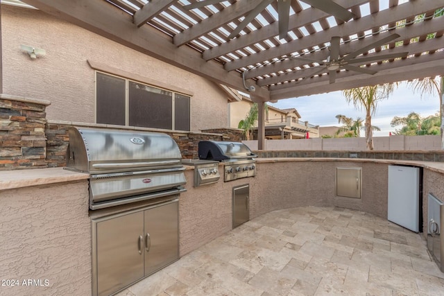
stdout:
<svg viewBox="0 0 444 296">
<path fill-rule="evenodd" d="M 129 82 L 129 121 L 132 126 L 173 128 L 171 92 L 142 83 Z"/>
</svg>

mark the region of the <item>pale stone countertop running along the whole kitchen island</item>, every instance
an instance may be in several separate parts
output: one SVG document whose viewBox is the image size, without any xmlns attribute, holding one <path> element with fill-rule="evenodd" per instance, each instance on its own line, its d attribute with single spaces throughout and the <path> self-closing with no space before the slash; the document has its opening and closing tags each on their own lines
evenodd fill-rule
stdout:
<svg viewBox="0 0 444 296">
<path fill-rule="evenodd" d="M 273 162 L 357 162 L 357 163 L 378 163 L 378 164 L 398 164 L 407 166 L 421 166 L 430 171 L 444 174 L 444 162 L 418 162 L 395 159 L 365 159 L 365 158 L 306 158 L 306 157 L 275 157 L 257 158 L 257 164 Z M 186 170 L 194 167 L 185 166 Z M 28 170 L 0 171 L 0 192 L 8 189 L 19 189 L 27 186 L 38 186 L 62 182 L 76 182 L 88 180 L 89 174 L 68 171 L 64 168 L 35 168 Z"/>
</svg>

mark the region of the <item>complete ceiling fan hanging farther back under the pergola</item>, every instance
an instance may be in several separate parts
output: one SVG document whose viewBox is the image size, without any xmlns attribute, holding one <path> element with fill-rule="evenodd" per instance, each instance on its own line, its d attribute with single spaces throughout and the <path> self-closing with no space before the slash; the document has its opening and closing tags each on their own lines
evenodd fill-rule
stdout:
<svg viewBox="0 0 444 296">
<path fill-rule="evenodd" d="M 384 44 L 387 44 L 395 39 L 400 37 L 398 34 L 392 34 L 385 38 L 382 38 L 382 40 L 379 40 L 377 42 L 373 42 L 372 44 L 368 44 L 368 46 L 364 46 L 361 49 L 358 49 L 357 51 L 353 51 L 352 53 L 348 53 L 348 55 L 341 55 L 339 54 L 339 42 L 341 41 L 341 37 L 333 36 L 332 40 L 330 41 L 330 55 L 327 57 L 327 59 L 324 60 L 311 60 L 309 58 L 304 58 L 303 56 L 296 56 L 292 57 L 296 60 L 305 60 L 307 62 L 316 62 L 319 64 L 318 67 L 321 67 L 322 69 L 311 73 L 309 77 L 324 73 L 325 71 L 328 71 L 328 76 L 330 78 L 330 84 L 334 83 L 336 80 L 336 71 L 339 69 L 346 69 L 349 71 L 356 71 L 359 73 L 366 73 L 373 75 L 377 73 L 377 71 L 373 71 L 370 69 L 366 69 L 363 67 L 358 67 L 353 64 L 364 64 L 364 63 L 371 63 L 371 62 L 380 62 L 383 60 L 390 60 L 394 58 L 405 58 L 409 54 L 408 52 L 403 53 L 388 53 L 384 55 L 373 55 L 363 58 L 356 58 L 361 53 L 366 53 L 367 51 L 370 51 L 371 49 L 375 49 L 377 46 L 382 46 Z M 305 78 L 309 78 L 305 77 Z M 302 78 L 305 79 L 305 78 Z"/>
</svg>

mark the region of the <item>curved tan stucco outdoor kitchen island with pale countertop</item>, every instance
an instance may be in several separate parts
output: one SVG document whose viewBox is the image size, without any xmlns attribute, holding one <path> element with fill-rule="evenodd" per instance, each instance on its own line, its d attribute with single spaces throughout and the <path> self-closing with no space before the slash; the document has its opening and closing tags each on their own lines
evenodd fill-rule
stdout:
<svg viewBox="0 0 444 296">
<path fill-rule="evenodd" d="M 232 229 L 232 188 L 243 184 L 250 185 L 250 219 L 307 206 L 343 207 L 386 218 L 390 164 L 422 167 L 423 203 L 428 193 L 444 200 L 444 163 L 439 162 L 264 158 L 257 159 L 255 177 L 232 182 L 221 178 L 196 188 L 193 168 L 187 166 L 187 191 L 179 198 L 180 256 Z M 361 168 L 361 198 L 336 196 L 338 167 Z M 1 295 L 91 294 L 91 218 L 115 209 L 88 211 L 87 178 L 62 168 L 0 172 L 1 279 L 37 280 L 33 287 L 1 286 Z M 422 212 L 427 217 L 427 207 Z"/>
</svg>

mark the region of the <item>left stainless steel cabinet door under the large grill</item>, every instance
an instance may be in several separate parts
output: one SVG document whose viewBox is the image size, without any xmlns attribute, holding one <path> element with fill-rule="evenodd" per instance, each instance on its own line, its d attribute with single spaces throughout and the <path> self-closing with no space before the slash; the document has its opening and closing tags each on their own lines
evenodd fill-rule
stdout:
<svg viewBox="0 0 444 296">
<path fill-rule="evenodd" d="M 144 213 L 103 220 L 96 227 L 97 294 L 110 295 L 144 277 Z"/>
</svg>

